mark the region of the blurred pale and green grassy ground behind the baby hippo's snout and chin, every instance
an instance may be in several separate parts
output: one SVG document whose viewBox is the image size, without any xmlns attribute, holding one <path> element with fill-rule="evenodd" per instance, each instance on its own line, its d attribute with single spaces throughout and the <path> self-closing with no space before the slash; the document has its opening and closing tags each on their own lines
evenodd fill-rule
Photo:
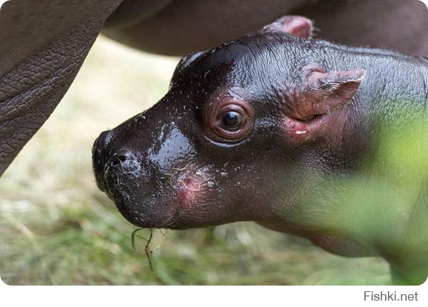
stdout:
<svg viewBox="0 0 428 307">
<path fill-rule="evenodd" d="M 98 39 L 71 90 L 0 179 L 0 275 L 9 284 L 387 284 L 379 258 L 333 256 L 300 238 L 235 223 L 142 238 L 98 191 L 91 146 L 165 94 L 178 59 Z M 149 231 L 139 236 L 148 238 Z"/>
</svg>

